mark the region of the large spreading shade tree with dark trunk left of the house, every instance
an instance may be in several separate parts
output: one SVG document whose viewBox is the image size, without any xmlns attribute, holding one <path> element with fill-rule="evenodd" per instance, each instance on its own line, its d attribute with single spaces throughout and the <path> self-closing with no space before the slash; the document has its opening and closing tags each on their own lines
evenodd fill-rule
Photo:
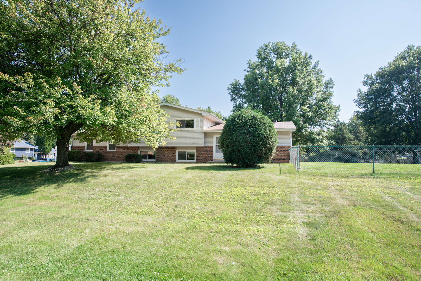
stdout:
<svg viewBox="0 0 421 281">
<path fill-rule="evenodd" d="M 165 86 L 161 21 L 117 0 L 10 0 L 0 4 L 0 136 L 19 130 L 57 139 L 68 164 L 73 133 L 116 144 L 169 137 L 151 86 Z M 170 124 L 171 125 L 171 124 Z"/>
</svg>

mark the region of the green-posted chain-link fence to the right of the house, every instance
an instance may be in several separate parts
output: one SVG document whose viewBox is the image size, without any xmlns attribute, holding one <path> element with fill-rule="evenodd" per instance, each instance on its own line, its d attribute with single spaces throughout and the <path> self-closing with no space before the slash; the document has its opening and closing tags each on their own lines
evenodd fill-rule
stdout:
<svg viewBox="0 0 421 281">
<path fill-rule="evenodd" d="M 290 148 L 297 171 L 421 174 L 421 146 L 310 146 Z"/>
</svg>

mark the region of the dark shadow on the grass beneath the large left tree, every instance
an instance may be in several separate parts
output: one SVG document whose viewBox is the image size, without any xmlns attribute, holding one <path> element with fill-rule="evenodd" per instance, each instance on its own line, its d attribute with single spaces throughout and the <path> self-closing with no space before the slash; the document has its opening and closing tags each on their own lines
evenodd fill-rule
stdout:
<svg viewBox="0 0 421 281">
<path fill-rule="evenodd" d="M 51 165 L 51 163 L 49 163 Z M 85 184 L 103 176 L 102 172 L 113 169 L 139 169 L 141 166 L 115 165 L 118 163 L 72 163 L 79 169 L 63 170 L 55 173 L 44 173 L 41 170 L 50 165 L 28 163 L 25 166 L 0 166 L 0 199 L 9 196 L 21 196 L 36 192 L 40 187 L 64 187 L 67 184 Z M 114 165 L 113 165 L 114 164 Z"/>
</svg>

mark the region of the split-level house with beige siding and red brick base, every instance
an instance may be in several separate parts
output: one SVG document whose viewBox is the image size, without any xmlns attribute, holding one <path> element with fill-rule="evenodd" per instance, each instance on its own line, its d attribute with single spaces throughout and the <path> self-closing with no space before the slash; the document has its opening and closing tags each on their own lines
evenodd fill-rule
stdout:
<svg viewBox="0 0 421 281">
<path fill-rule="evenodd" d="M 223 155 L 218 148 L 219 135 L 225 122 L 212 113 L 183 107 L 166 102 L 160 103 L 160 107 L 169 115 L 168 122 L 179 121 L 179 131 L 174 131 L 171 136 L 175 140 L 165 140 L 165 146 L 152 147 L 146 145 L 143 140 L 139 143 L 115 145 L 110 142 L 89 143 L 79 142 L 72 136 L 71 150 L 101 153 L 104 161 L 124 161 L 124 155 L 139 153 L 144 161 L 151 162 L 193 162 L 206 163 L 209 161 L 223 161 Z M 292 133 L 296 130 L 293 122 L 275 122 L 278 146 L 272 163 L 289 163 L 289 151 L 292 146 Z"/>
</svg>

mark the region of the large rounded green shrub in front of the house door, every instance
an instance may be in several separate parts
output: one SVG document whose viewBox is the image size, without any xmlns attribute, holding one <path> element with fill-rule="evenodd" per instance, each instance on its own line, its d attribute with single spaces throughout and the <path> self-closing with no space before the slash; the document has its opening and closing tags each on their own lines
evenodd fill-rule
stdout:
<svg viewBox="0 0 421 281">
<path fill-rule="evenodd" d="M 254 167 L 272 160 L 277 135 L 267 116 L 245 108 L 226 120 L 219 144 L 225 163 Z"/>
</svg>

